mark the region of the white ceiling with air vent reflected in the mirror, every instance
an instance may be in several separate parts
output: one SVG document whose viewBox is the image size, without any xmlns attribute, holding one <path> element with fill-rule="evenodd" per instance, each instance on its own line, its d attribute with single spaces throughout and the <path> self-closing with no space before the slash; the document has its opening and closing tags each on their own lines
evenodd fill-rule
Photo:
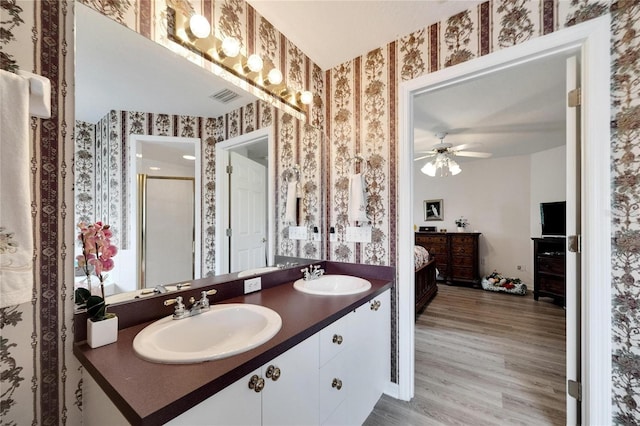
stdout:
<svg viewBox="0 0 640 426">
<path fill-rule="evenodd" d="M 93 9 L 76 8 L 76 119 L 110 110 L 219 117 L 256 98 Z M 222 89 L 241 95 L 223 104 Z"/>
</svg>

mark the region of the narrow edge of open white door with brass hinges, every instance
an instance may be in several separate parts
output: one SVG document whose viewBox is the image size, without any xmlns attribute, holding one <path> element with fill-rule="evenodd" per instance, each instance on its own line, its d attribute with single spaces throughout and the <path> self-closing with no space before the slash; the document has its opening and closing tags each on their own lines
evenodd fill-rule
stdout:
<svg viewBox="0 0 640 426">
<path fill-rule="evenodd" d="M 567 59 L 567 250 L 566 250 L 566 351 L 567 351 L 567 424 L 581 424 L 580 401 L 569 394 L 569 381 L 581 382 L 580 374 L 580 253 L 574 251 L 581 229 L 581 155 L 580 155 L 580 106 L 572 106 L 575 100 L 569 92 L 580 86 L 578 59 Z M 575 92 L 574 92 L 575 93 Z"/>
</svg>

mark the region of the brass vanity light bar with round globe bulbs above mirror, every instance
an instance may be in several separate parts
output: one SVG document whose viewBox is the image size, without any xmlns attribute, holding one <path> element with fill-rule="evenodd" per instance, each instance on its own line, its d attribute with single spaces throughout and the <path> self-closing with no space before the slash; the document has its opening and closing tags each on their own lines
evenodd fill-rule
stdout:
<svg viewBox="0 0 640 426">
<path fill-rule="evenodd" d="M 187 17 L 167 8 L 169 39 L 213 62 L 254 88 L 277 98 L 299 113 L 305 113 L 307 105 L 313 101 L 313 93 L 308 90 L 295 91 L 283 83 L 282 72 L 273 64 L 265 67 L 257 54 L 245 57 L 240 41 L 235 37 L 219 40 L 212 34 L 211 25 L 202 15 Z"/>
</svg>

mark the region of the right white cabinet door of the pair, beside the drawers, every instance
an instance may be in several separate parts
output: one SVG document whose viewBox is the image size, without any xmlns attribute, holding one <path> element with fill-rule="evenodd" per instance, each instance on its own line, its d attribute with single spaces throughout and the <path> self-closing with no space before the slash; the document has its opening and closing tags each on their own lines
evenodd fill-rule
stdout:
<svg viewBox="0 0 640 426">
<path fill-rule="evenodd" d="M 319 418 L 319 339 L 309 337 L 262 367 L 264 426 L 314 425 Z M 279 377 L 268 377 L 269 367 L 279 369 Z"/>
</svg>

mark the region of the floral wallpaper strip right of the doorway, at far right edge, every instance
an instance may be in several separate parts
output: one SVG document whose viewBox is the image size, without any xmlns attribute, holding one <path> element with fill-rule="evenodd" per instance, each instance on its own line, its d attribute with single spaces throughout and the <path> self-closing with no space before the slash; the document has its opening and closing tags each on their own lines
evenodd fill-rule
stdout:
<svg viewBox="0 0 640 426">
<path fill-rule="evenodd" d="M 577 2 L 576 2 L 577 3 Z M 602 13 L 580 2 L 570 22 Z M 640 422 L 640 3 L 611 5 L 613 160 L 613 409 L 615 424 Z M 569 22 L 569 21 L 568 21 Z"/>
</svg>

